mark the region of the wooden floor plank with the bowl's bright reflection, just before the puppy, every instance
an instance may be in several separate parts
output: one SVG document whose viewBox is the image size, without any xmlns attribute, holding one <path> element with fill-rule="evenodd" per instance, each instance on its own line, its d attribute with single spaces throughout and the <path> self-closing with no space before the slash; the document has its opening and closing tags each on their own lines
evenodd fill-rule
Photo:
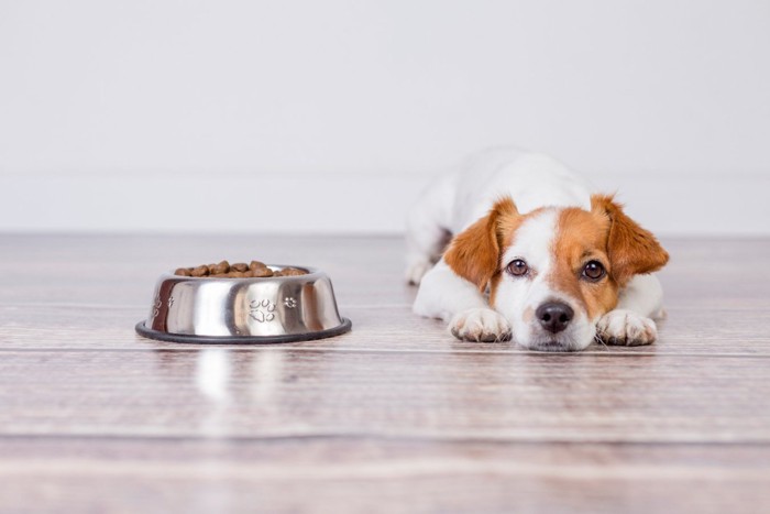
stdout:
<svg viewBox="0 0 770 514">
<path fill-rule="evenodd" d="M 770 444 L 763 358 L 0 352 L 0 435 Z"/>
</svg>

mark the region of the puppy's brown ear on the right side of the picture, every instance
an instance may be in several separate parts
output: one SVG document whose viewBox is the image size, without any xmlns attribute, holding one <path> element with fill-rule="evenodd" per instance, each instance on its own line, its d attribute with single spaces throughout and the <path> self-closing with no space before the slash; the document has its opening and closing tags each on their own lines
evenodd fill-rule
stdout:
<svg viewBox="0 0 770 514">
<path fill-rule="evenodd" d="M 613 196 L 592 196 L 591 210 L 609 219 L 607 254 L 618 285 L 626 285 L 634 275 L 658 271 L 669 262 L 668 252 L 652 232 L 626 216 Z"/>
</svg>

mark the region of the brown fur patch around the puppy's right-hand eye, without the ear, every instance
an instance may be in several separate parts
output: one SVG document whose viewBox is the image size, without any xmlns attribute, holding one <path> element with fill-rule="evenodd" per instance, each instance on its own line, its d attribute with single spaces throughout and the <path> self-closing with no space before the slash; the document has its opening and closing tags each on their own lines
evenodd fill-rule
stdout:
<svg viewBox="0 0 770 514">
<path fill-rule="evenodd" d="M 613 280 L 607 255 L 609 220 L 595 212 L 568 208 L 559 214 L 553 241 L 554 289 L 568 294 L 581 304 L 588 319 L 598 319 L 617 305 L 618 284 Z M 605 273 L 598 280 L 583 275 L 590 262 L 597 262 Z"/>
</svg>

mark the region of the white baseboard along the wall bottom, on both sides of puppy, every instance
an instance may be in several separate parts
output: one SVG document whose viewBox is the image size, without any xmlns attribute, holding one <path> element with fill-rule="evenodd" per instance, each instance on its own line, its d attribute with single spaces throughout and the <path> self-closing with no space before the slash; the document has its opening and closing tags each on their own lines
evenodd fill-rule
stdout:
<svg viewBox="0 0 770 514">
<path fill-rule="evenodd" d="M 663 234 L 770 236 L 770 176 L 594 175 Z M 7 175 L 3 232 L 398 233 L 429 176 Z"/>
</svg>

